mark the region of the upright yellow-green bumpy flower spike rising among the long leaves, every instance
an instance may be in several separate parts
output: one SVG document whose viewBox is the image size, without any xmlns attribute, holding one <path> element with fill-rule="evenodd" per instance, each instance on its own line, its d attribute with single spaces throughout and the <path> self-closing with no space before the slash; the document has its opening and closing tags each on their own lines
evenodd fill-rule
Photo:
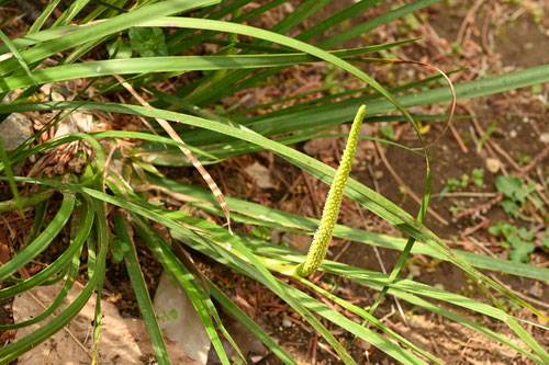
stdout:
<svg viewBox="0 0 549 365">
<path fill-rule="evenodd" d="M 352 122 L 347 146 L 345 147 L 341 161 L 337 168 L 334 182 L 329 187 L 328 197 L 326 198 L 326 204 L 324 205 L 324 210 L 322 212 L 321 225 L 314 233 L 313 243 L 311 243 L 305 262 L 295 267 L 296 274 L 302 277 L 314 273 L 321 266 L 321 263 L 328 251 L 329 241 L 332 240 L 332 235 L 334 233 L 334 228 L 337 223 L 337 216 L 339 215 L 339 206 L 341 205 L 345 184 L 347 184 L 352 160 L 357 153 L 358 135 L 360 133 L 360 126 L 362 125 L 365 115 L 366 105 L 361 105 L 355 116 L 355 121 Z"/>
</svg>

